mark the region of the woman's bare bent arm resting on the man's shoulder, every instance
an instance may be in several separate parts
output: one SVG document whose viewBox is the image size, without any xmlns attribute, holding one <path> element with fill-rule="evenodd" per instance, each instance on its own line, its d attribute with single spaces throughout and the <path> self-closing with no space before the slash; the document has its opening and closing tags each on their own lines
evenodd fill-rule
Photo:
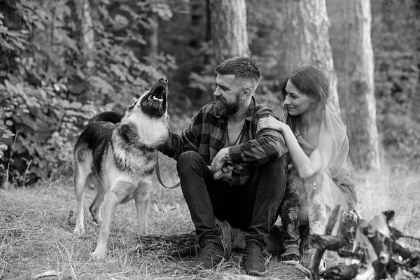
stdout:
<svg viewBox="0 0 420 280">
<path fill-rule="evenodd" d="M 260 130 L 271 128 L 274 130 L 279 130 L 279 132 L 283 134 L 290 158 L 293 161 L 297 175 L 299 175 L 301 178 L 307 179 L 321 170 L 322 158 L 319 149 L 316 148 L 308 158 L 302 148 L 300 148 L 300 145 L 297 142 L 293 131 L 288 125 L 286 125 L 286 123 L 282 123 L 276 118 L 269 116 L 268 118 L 261 119 L 258 125 Z"/>
</svg>

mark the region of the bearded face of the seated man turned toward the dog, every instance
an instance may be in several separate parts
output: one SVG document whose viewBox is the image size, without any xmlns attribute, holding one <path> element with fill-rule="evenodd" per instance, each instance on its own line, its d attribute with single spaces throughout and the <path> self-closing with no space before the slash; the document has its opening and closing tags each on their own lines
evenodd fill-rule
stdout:
<svg viewBox="0 0 420 280">
<path fill-rule="evenodd" d="M 221 118 L 234 115 L 241 105 L 242 87 L 235 83 L 235 75 L 216 76 L 216 99 L 215 113 Z"/>
</svg>

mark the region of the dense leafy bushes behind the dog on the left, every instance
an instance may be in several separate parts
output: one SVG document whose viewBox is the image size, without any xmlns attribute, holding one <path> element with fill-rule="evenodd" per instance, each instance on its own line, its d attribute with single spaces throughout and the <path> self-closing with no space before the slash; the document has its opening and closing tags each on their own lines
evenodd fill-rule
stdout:
<svg viewBox="0 0 420 280">
<path fill-rule="evenodd" d="M 86 48 L 80 36 L 87 22 L 78 13 L 80 3 L 0 4 L 5 11 L 0 13 L 0 132 L 17 134 L 10 165 L 15 183 L 68 176 L 83 123 L 99 111 L 123 113 L 152 80 L 176 68 L 170 55 L 157 54 L 151 62 L 137 51 L 146 44 L 142 32 L 157 24 L 150 15 L 172 16 L 165 2 L 97 1 L 91 10 L 94 48 Z"/>
</svg>

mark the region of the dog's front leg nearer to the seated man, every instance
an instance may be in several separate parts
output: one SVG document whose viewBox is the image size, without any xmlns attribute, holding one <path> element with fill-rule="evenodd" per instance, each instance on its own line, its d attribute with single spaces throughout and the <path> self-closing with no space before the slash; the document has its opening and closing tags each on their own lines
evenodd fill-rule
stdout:
<svg viewBox="0 0 420 280">
<path fill-rule="evenodd" d="M 138 191 L 134 197 L 136 202 L 137 218 L 139 221 L 139 235 L 148 234 L 148 205 L 150 202 L 150 188 L 152 181 L 144 180 L 139 183 Z"/>
</svg>

